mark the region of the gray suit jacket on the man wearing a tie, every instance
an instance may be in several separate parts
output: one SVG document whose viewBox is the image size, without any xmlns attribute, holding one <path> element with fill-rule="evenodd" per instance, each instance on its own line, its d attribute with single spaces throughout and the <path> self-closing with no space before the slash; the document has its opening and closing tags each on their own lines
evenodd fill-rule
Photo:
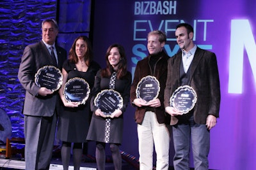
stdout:
<svg viewBox="0 0 256 170">
<path fill-rule="evenodd" d="M 58 67 L 61 70 L 63 62 L 67 59 L 67 52 L 60 46 L 56 46 L 58 53 Z M 26 46 L 21 58 L 18 78 L 26 89 L 26 97 L 24 101 L 24 115 L 51 117 L 54 113 L 58 100 L 58 92 L 46 97 L 38 95 L 38 87 L 35 84 L 35 74 L 43 66 L 53 65 L 51 54 L 41 40 L 33 45 Z"/>
</svg>

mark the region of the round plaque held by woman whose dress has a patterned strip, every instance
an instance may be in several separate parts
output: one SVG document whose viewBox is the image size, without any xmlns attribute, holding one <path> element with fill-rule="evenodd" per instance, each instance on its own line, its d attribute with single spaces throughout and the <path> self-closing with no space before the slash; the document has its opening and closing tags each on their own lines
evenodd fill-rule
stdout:
<svg viewBox="0 0 256 170">
<path fill-rule="evenodd" d="M 123 107 L 123 98 L 115 90 L 102 90 L 94 99 L 94 104 L 106 116 L 110 116 L 115 110 Z"/>
</svg>

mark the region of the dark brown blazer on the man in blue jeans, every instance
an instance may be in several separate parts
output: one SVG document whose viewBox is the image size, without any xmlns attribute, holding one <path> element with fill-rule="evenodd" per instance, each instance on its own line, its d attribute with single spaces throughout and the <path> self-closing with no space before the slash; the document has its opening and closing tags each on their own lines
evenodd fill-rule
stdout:
<svg viewBox="0 0 256 170">
<path fill-rule="evenodd" d="M 164 90 L 164 106 L 170 106 L 170 97 L 180 86 L 180 62 L 182 53 L 179 52 L 168 60 L 168 75 Z M 196 124 L 205 124 L 208 115 L 219 117 L 220 111 L 220 80 L 215 53 L 201 48 L 196 52 L 189 67 L 191 71 L 190 86 L 196 92 L 197 101 L 193 111 Z M 178 122 L 172 117 L 171 125 Z"/>
</svg>

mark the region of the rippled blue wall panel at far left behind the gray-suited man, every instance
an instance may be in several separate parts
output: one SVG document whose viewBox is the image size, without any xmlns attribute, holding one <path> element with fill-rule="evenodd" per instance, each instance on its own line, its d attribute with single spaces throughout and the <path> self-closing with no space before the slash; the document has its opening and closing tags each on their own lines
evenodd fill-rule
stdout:
<svg viewBox="0 0 256 170">
<path fill-rule="evenodd" d="M 25 91 L 17 78 L 20 57 L 26 45 L 42 39 L 41 22 L 46 18 L 56 18 L 56 1 L 1 2 L 0 108 L 10 117 L 12 137 L 24 137 L 22 107 Z"/>
</svg>

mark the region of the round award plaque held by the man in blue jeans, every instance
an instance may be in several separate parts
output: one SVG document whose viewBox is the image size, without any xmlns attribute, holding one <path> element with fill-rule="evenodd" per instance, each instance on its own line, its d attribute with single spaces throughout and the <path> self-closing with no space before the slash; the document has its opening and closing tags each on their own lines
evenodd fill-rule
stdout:
<svg viewBox="0 0 256 170">
<path fill-rule="evenodd" d="M 173 92 L 170 98 L 170 104 L 173 108 L 186 114 L 194 108 L 196 100 L 197 96 L 195 90 L 189 85 L 184 85 Z"/>
</svg>

